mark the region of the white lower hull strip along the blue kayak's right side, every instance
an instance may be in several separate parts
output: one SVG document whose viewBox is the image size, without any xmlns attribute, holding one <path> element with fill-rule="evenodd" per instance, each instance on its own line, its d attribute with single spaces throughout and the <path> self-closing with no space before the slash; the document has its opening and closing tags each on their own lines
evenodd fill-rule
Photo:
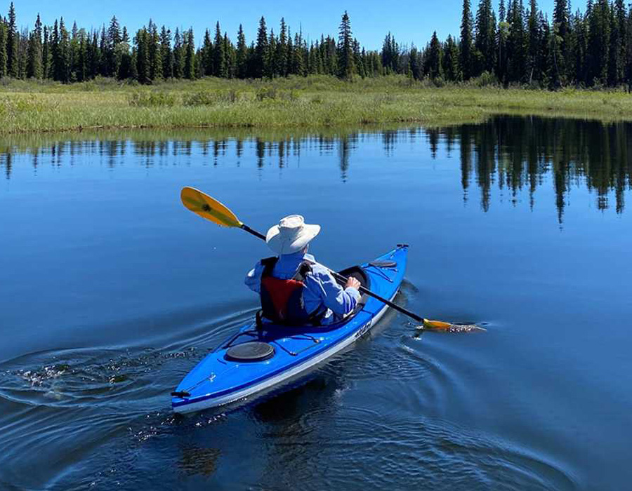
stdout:
<svg viewBox="0 0 632 491">
<path fill-rule="evenodd" d="M 391 302 L 393 302 L 393 299 L 395 298 L 395 295 L 397 295 L 397 292 L 399 290 L 400 289 L 397 288 L 393 297 L 390 297 Z M 361 337 L 361 336 L 356 337 L 359 332 L 362 332 L 362 335 L 369 332 L 369 330 L 371 330 L 371 328 L 373 328 L 373 326 L 376 325 L 376 323 L 386 313 L 386 309 L 388 309 L 388 305 L 384 304 L 384 306 L 380 309 L 380 311 L 378 311 L 378 313 L 375 316 L 373 316 L 368 323 L 360 326 L 359 329 L 352 332 L 348 337 L 343 339 L 341 342 L 327 349 L 326 351 L 323 351 L 320 355 L 317 355 L 314 358 L 305 360 L 305 363 L 301 363 L 301 365 L 297 365 L 296 367 L 291 368 L 291 370 L 287 370 L 287 372 L 279 373 L 279 375 L 276 375 L 275 377 L 272 377 L 270 379 L 265 379 L 263 382 L 259 384 L 246 387 L 245 389 L 242 389 L 237 392 L 232 392 L 231 394 L 226 394 L 225 396 L 222 396 L 222 397 L 209 398 L 209 399 L 206 399 L 205 401 L 199 401 L 199 403 L 190 403 L 187 405 L 176 406 L 175 408 L 173 408 L 173 412 L 184 413 L 184 412 L 200 411 L 203 409 L 215 408 L 216 406 L 232 403 L 234 401 L 239 401 L 239 399 L 243 399 L 247 396 L 251 396 L 252 394 L 255 394 L 256 392 L 269 389 L 272 386 L 280 384 L 285 379 L 289 379 L 291 377 L 294 377 L 295 375 L 300 374 L 301 372 L 304 372 L 305 370 L 309 370 L 310 368 L 312 368 L 312 366 L 317 365 L 318 363 L 326 360 L 330 356 L 334 356 L 334 354 L 338 353 L 338 351 L 341 351 L 345 347 L 348 347 L 350 344 L 352 344 L 358 337 Z"/>
</svg>

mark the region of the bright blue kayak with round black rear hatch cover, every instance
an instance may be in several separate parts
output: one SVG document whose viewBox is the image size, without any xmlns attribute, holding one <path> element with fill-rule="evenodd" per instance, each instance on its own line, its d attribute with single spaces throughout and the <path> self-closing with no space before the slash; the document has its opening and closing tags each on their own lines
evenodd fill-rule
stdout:
<svg viewBox="0 0 632 491">
<path fill-rule="evenodd" d="M 407 245 L 376 260 L 340 271 L 393 300 L 406 269 Z M 175 412 L 228 404 L 282 386 L 366 334 L 388 306 L 363 295 L 355 311 L 330 325 L 288 327 L 252 321 L 225 339 L 191 370 L 171 394 Z"/>
</svg>

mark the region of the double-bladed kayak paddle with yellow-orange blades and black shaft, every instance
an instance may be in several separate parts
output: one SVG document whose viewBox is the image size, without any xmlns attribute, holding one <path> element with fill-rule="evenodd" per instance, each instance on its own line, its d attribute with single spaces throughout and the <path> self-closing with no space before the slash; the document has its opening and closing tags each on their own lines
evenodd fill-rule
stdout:
<svg viewBox="0 0 632 491">
<path fill-rule="evenodd" d="M 248 227 L 248 225 L 241 222 L 237 218 L 237 215 L 235 215 L 235 213 L 232 213 L 229 208 L 224 206 L 216 199 L 211 198 L 211 196 L 209 196 L 208 194 L 199 191 L 199 189 L 195 189 L 194 187 L 183 187 L 182 192 L 180 193 L 180 198 L 182 199 L 182 203 L 186 208 L 191 210 L 193 213 L 197 213 L 197 215 L 201 216 L 202 218 L 216 223 L 221 227 L 236 227 L 242 229 L 249 234 L 261 238 L 263 241 L 265 241 L 265 235 L 260 234 L 258 231 Z M 338 274 L 336 273 L 336 271 L 332 271 L 329 268 L 327 269 L 329 270 L 329 273 L 331 273 L 331 275 L 336 278 L 336 280 L 343 282 L 347 281 L 347 278 L 345 278 L 345 276 Z M 418 316 L 417 314 L 404 309 L 404 307 L 400 307 L 399 305 L 390 302 L 390 300 L 387 300 L 386 298 L 383 298 L 380 295 L 371 292 L 371 290 L 367 290 L 367 288 L 364 288 L 364 286 L 360 286 L 360 292 L 369 295 L 369 297 L 376 298 L 380 302 L 387 304 L 388 307 L 400 311 L 402 314 L 406 314 L 410 318 L 414 318 L 414 320 L 417 322 L 421 322 L 421 326 L 419 326 L 419 328 L 421 328 L 422 326 L 424 329 L 429 330 L 451 330 L 452 328 L 454 328 L 454 325 L 451 323 L 441 321 L 429 321 L 426 318 Z"/>
</svg>

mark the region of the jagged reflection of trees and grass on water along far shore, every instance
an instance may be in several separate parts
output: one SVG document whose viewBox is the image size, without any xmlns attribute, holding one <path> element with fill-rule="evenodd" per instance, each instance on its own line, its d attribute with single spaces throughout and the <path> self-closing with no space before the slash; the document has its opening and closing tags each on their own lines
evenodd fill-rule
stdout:
<svg viewBox="0 0 632 491">
<path fill-rule="evenodd" d="M 518 194 L 529 194 L 533 208 L 536 190 L 549 187 L 555 193 L 558 220 L 562 222 L 573 187 L 595 191 L 596 206 L 624 211 L 624 194 L 632 187 L 632 123 L 496 116 L 485 123 L 448 128 L 380 128 L 379 130 L 328 130 L 287 133 L 209 133 L 205 130 L 76 133 L 73 135 L 26 135 L 0 142 L 0 167 L 6 179 L 15 171 L 16 156 L 29 155 L 35 170 L 50 164 L 74 165 L 75 157 L 97 154 L 109 168 L 122 166 L 127 154 L 146 168 L 175 165 L 173 156 L 202 156 L 204 165 L 234 161 L 237 166 L 252 158 L 257 168 L 280 170 L 298 162 L 301 149 L 338 159 L 340 179 L 350 179 L 350 168 L 362 165 L 360 144 L 380 142 L 383 156 L 397 162 L 401 152 L 443 156 L 458 152 L 463 201 L 470 201 L 473 185 L 480 193 L 480 207 L 489 210 L 492 193 L 509 191 L 511 203 Z M 190 161 L 187 161 L 187 165 Z M 504 194 L 503 194 L 504 196 Z"/>
</svg>

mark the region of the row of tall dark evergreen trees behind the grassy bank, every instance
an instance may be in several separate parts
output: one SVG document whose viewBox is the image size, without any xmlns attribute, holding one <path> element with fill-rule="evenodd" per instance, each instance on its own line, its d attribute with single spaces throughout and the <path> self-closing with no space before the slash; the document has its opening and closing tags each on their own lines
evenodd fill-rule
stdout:
<svg viewBox="0 0 632 491">
<path fill-rule="evenodd" d="M 0 76 L 53 79 L 64 83 L 96 76 L 152 83 L 159 79 L 273 78 L 329 74 L 353 76 L 407 74 L 411 79 L 445 81 L 480 78 L 483 83 L 558 88 L 632 86 L 632 8 L 624 0 L 588 0 L 586 12 L 571 13 L 570 1 L 555 0 L 553 18 L 536 0 L 500 0 L 498 18 L 491 0 L 480 0 L 474 16 L 463 0 L 461 35 L 445 41 L 433 33 L 423 48 L 402 46 L 387 34 L 381 51 L 367 50 L 353 37 L 345 12 L 337 39 L 320 36 L 308 43 L 281 19 L 278 34 L 259 20 L 256 41 L 247 43 L 239 25 L 237 43 L 216 23 L 196 48 L 193 30 L 172 32 L 150 22 L 131 36 L 113 17 L 97 30 L 63 18 L 18 32 L 15 8 L 0 18 Z"/>
</svg>

